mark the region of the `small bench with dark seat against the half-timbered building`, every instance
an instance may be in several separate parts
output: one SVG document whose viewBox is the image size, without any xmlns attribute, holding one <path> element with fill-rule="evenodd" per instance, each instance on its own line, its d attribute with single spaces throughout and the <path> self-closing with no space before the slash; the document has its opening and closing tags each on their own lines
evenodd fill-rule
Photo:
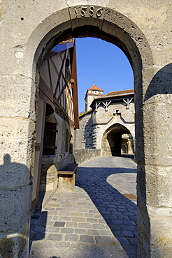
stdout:
<svg viewBox="0 0 172 258">
<path fill-rule="evenodd" d="M 58 171 L 59 190 L 74 190 L 77 167 L 77 163 L 69 163 Z"/>
</svg>

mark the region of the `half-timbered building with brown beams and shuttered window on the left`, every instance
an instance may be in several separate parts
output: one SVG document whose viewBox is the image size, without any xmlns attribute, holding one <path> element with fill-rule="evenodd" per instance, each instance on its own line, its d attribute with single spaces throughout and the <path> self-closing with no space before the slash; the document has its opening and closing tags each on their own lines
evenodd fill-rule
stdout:
<svg viewBox="0 0 172 258">
<path fill-rule="evenodd" d="M 73 162 L 73 133 L 78 128 L 75 40 L 45 56 L 40 73 L 32 208 L 57 188 L 57 170 Z"/>
</svg>

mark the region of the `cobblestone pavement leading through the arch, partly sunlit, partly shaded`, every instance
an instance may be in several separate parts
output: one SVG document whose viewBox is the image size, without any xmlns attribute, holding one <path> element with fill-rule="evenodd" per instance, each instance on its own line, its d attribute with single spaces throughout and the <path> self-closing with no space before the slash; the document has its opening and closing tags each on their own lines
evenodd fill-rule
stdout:
<svg viewBox="0 0 172 258">
<path fill-rule="evenodd" d="M 136 163 L 99 157 L 78 167 L 73 192 L 55 192 L 31 218 L 30 258 L 136 257 Z"/>
</svg>

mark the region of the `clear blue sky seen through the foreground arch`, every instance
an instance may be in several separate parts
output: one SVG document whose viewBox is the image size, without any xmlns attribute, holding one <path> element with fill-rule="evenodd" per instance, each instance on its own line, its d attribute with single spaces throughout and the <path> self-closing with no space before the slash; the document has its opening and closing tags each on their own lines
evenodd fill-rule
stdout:
<svg viewBox="0 0 172 258">
<path fill-rule="evenodd" d="M 98 38 L 76 38 L 79 112 L 85 111 L 85 93 L 95 80 L 104 90 L 134 89 L 134 75 L 125 54 Z"/>
</svg>

